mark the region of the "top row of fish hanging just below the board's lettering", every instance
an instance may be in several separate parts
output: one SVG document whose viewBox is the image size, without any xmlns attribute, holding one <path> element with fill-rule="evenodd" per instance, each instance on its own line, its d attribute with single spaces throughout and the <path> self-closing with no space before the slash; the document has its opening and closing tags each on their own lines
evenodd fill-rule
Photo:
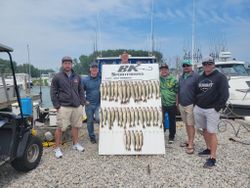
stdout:
<svg viewBox="0 0 250 188">
<path fill-rule="evenodd" d="M 109 81 L 101 84 L 101 99 L 120 101 L 121 104 L 134 102 L 147 102 L 148 99 L 160 97 L 158 80 L 148 81 Z"/>
</svg>

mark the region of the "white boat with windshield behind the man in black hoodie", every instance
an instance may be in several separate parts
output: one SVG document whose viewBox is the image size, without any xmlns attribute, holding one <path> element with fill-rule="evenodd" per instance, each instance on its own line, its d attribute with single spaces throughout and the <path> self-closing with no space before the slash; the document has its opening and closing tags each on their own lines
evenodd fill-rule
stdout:
<svg viewBox="0 0 250 188">
<path fill-rule="evenodd" d="M 231 52 L 220 52 L 215 67 L 228 78 L 229 99 L 225 114 L 232 118 L 250 116 L 250 74 L 246 63 L 231 58 Z M 198 72 L 202 65 L 198 65 Z"/>
</svg>

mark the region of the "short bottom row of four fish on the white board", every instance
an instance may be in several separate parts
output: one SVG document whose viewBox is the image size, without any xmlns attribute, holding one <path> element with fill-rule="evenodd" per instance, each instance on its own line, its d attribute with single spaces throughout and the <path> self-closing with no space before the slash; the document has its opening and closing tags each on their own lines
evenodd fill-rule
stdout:
<svg viewBox="0 0 250 188">
<path fill-rule="evenodd" d="M 131 147 L 134 151 L 141 151 L 144 142 L 144 136 L 142 130 L 124 130 L 124 144 L 127 151 L 131 151 Z"/>
</svg>

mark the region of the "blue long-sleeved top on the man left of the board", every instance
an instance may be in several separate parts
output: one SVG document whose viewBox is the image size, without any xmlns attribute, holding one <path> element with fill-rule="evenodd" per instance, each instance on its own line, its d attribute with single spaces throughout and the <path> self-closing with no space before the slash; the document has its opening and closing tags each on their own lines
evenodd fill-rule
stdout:
<svg viewBox="0 0 250 188">
<path fill-rule="evenodd" d="M 86 100 L 90 102 L 91 105 L 100 106 L 100 76 L 98 75 L 95 78 L 90 75 L 84 77 L 82 78 L 82 84 L 86 92 Z"/>
</svg>

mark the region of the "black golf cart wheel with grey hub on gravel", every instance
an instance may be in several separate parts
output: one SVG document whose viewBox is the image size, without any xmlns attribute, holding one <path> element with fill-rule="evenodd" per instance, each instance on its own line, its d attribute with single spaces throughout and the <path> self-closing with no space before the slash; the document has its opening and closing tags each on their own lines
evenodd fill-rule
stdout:
<svg viewBox="0 0 250 188">
<path fill-rule="evenodd" d="M 11 165 L 17 171 L 28 172 L 37 167 L 42 154 L 43 146 L 41 140 L 36 136 L 30 136 L 23 156 L 12 161 Z"/>
</svg>

